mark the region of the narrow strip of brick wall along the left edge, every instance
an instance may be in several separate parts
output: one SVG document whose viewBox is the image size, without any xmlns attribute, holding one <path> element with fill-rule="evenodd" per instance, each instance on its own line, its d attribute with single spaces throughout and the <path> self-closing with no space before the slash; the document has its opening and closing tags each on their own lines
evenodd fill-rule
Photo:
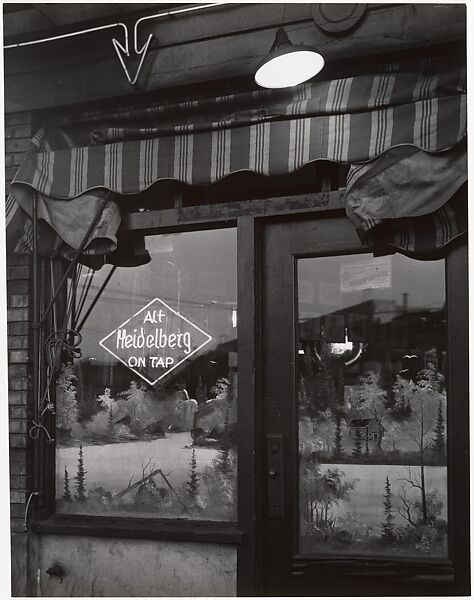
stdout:
<svg viewBox="0 0 474 600">
<path fill-rule="evenodd" d="M 6 193 L 32 136 L 31 113 L 5 116 Z M 8 410 L 10 432 L 10 517 L 12 595 L 27 595 L 28 540 L 23 531 L 31 491 L 32 444 L 28 436 L 31 393 L 31 259 L 7 254 Z"/>
</svg>

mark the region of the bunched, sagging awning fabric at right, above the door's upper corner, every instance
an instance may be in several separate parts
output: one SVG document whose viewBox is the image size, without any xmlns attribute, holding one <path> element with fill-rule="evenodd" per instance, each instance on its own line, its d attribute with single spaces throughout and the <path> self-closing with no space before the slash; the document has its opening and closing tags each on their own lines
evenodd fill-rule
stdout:
<svg viewBox="0 0 474 600">
<path fill-rule="evenodd" d="M 352 165 L 346 212 L 364 241 L 434 252 L 467 229 L 466 178 L 464 142 L 438 153 L 397 146 Z"/>
</svg>

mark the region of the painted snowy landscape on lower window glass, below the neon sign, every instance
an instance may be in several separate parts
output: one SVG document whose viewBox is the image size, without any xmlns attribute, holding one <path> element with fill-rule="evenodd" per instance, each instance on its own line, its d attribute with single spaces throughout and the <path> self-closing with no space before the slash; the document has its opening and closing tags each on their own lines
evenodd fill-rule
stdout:
<svg viewBox="0 0 474 600">
<path fill-rule="evenodd" d="M 199 380 L 199 401 L 186 390 L 160 393 L 132 380 L 116 395 L 106 388 L 89 416 L 76 400 L 76 379 L 72 366 L 63 367 L 56 408 L 58 512 L 236 518 L 236 407 L 227 378 L 209 394 Z"/>
</svg>

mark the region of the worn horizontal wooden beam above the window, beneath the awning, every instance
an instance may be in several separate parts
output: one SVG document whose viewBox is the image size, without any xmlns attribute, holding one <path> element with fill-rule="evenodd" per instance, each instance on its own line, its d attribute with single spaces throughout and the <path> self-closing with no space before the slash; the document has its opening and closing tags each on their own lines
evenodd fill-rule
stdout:
<svg viewBox="0 0 474 600">
<path fill-rule="evenodd" d="M 344 192 L 345 190 L 337 190 L 297 196 L 282 196 L 280 198 L 265 198 L 263 200 L 222 202 L 202 206 L 129 213 L 122 217 L 122 227 L 125 231 L 147 232 L 156 228 L 231 222 L 246 215 L 269 217 L 341 210 L 344 207 Z"/>
</svg>

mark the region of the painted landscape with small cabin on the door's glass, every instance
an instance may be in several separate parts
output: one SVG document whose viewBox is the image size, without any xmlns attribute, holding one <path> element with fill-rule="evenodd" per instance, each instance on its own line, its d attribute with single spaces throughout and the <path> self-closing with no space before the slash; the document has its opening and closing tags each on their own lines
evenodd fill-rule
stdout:
<svg viewBox="0 0 474 600">
<path fill-rule="evenodd" d="M 329 391 L 331 379 L 319 376 Z M 431 364 L 415 380 L 397 375 L 389 394 L 381 374 L 369 372 L 358 386 L 344 386 L 342 405 L 324 410 L 314 409 L 306 387 L 302 376 L 302 551 L 445 556 L 442 375 Z"/>
</svg>

